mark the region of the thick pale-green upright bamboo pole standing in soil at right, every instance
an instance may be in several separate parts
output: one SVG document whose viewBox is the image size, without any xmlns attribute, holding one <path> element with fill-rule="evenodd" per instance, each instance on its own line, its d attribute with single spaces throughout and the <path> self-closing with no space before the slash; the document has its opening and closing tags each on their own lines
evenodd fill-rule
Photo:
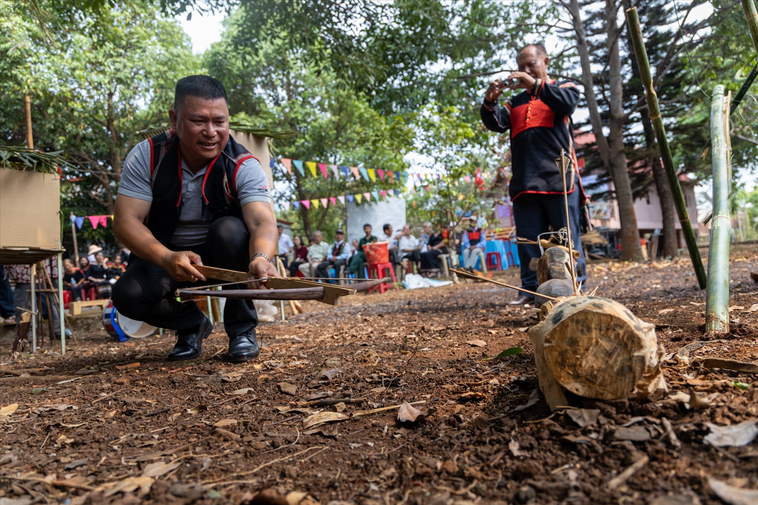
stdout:
<svg viewBox="0 0 758 505">
<path fill-rule="evenodd" d="M 711 101 L 711 164 L 713 166 L 713 220 L 708 248 L 706 334 L 729 331 L 729 179 L 724 132 L 724 86 L 713 87 Z"/>
</svg>

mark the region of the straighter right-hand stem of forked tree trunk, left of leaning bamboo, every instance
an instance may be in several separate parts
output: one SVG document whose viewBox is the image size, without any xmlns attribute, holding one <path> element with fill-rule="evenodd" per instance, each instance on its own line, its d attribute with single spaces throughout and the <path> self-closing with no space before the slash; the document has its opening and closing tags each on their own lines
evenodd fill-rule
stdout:
<svg viewBox="0 0 758 505">
<path fill-rule="evenodd" d="M 608 143 L 609 164 L 615 186 L 616 201 L 619 202 L 619 221 L 622 234 L 622 260 L 637 260 L 642 257 L 640 231 L 637 229 L 637 215 L 634 213 L 634 197 L 631 193 L 624 146 L 624 120 L 622 111 L 623 86 L 621 57 L 619 56 L 619 26 L 616 23 L 618 8 L 615 0 L 606 0 L 607 44 L 608 44 L 608 84 L 610 91 Z"/>
</svg>

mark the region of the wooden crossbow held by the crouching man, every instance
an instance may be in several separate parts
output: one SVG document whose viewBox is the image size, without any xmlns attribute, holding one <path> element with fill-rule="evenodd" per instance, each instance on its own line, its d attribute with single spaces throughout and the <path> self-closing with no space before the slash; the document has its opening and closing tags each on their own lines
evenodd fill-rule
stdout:
<svg viewBox="0 0 758 505">
<path fill-rule="evenodd" d="M 263 289 L 222 289 L 218 291 L 200 291 L 211 287 L 231 284 L 251 284 L 260 282 L 252 278 L 249 273 L 224 270 L 223 268 L 205 267 L 205 265 L 193 265 L 206 279 L 227 281 L 228 284 L 215 286 L 199 286 L 197 288 L 177 289 L 176 296 L 196 296 L 207 293 L 208 296 L 218 298 L 237 298 L 241 300 L 315 300 L 324 304 L 339 305 L 340 297 L 355 295 L 360 291 L 367 291 L 383 282 L 390 281 L 389 277 L 372 279 L 367 282 L 359 282 L 353 285 L 336 285 L 328 282 L 315 282 L 300 279 L 299 277 L 269 277 L 266 279 Z M 326 279 L 324 279 L 326 280 Z M 352 279 L 345 279 L 352 280 Z"/>
</svg>

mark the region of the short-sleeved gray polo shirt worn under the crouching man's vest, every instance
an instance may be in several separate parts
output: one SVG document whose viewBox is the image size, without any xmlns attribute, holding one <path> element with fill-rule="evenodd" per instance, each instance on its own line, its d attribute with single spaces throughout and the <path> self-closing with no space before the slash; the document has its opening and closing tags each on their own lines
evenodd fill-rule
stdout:
<svg viewBox="0 0 758 505">
<path fill-rule="evenodd" d="M 202 220 L 202 178 L 205 170 L 192 173 L 182 160 L 182 210 L 171 244 L 189 248 L 205 243 L 205 235 L 211 223 Z M 240 206 L 251 201 L 271 203 L 268 192 L 268 177 L 258 160 L 251 158 L 240 165 L 236 175 L 236 192 Z M 150 185 L 150 143 L 139 142 L 127 155 L 121 173 L 118 194 L 152 201 Z"/>
</svg>

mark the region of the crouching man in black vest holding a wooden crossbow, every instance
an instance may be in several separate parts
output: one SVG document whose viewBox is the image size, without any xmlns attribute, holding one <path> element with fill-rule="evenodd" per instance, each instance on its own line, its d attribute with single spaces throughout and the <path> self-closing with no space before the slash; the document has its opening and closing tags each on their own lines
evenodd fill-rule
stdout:
<svg viewBox="0 0 758 505">
<path fill-rule="evenodd" d="M 124 161 L 114 232 L 132 254 L 113 302 L 124 316 L 176 330 L 168 359 L 192 360 L 213 327 L 174 291 L 210 283 L 193 265 L 276 276 L 277 224 L 261 164 L 229 136 L 224 86 L 209 76 L 180 79 L 168 115 L 171 129 L 140 142 Z M 226 360 L 258 356 L 257 325 L 252 301 L 227 300 Z"/>
</svg>

